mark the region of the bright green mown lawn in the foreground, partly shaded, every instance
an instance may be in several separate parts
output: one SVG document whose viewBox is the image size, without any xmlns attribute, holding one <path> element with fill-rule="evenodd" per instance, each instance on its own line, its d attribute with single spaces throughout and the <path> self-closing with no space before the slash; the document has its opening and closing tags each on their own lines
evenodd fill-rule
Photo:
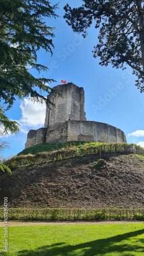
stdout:
<svg viewBox="0 0 144 256">
<path fill-rule="evenodd" d="M 9 251 L 3 252 L 4 228 L 0 228 L 0 255 L 144 255 L 142 223 L 21 226 L 8 231 Z"/>
</svg>

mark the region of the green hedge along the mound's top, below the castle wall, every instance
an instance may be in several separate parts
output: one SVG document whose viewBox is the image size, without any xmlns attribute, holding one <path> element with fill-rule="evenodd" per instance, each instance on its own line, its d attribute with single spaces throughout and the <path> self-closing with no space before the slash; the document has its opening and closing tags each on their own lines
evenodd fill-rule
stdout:
<svg viewBox="0 0 144 256">
<path fill-rule="evenodd" d="M 79 142 L 80 143 L 80 142 Z M 61 143 L 62 144 L 62 143 Z M 65 144 L 65 147 L 56 151 L 39 152 L 35 155 L 19 155 L 11 158 L 6 162 L 10 169 L 15 169 L 18 166 L 28 164 L 39 164 L 49 161 L 62 160 L 70 157 L 83 156 L 89 154 L 96 154 L 101 156 L 108 156 L 113 154 L 139 154 L 144 156 L 144 148 L 127 143 L 98 143 L 86 142 L 79 145 L 73 145 L 71 142 Z M 97 163 L 98 168 L 103 168 L 102 159 Z M 95 163 L 96 164 L 96 163 Z"/>
</svg>

